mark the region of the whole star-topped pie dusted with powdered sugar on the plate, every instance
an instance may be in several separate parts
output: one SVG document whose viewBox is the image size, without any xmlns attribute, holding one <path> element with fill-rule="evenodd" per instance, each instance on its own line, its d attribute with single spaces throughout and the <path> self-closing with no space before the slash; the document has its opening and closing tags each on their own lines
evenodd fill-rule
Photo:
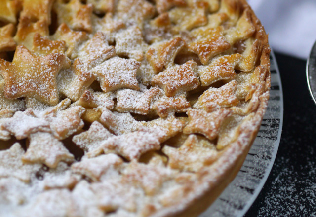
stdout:
<svg viewBox="0 0 316 217">
<path fill-rule="evenodd" d="M 269 52 L 245 0 L 1 0 L 0 216 L 198 215 L 257 134 Z"/>
</svg>

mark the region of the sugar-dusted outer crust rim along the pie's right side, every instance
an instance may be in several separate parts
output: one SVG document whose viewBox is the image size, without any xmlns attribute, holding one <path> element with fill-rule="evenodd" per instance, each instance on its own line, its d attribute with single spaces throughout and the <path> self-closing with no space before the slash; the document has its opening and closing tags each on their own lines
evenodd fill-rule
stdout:
<svg viewBox="0 0 316 217">
<path fill-rule="evenodd" d="M 265 74 L 264 82 L 257 86 L 255 91 L 260 91 L 260 104 L 253 113 L 251 120 L 241 125 L 237 141 L 228 146 L 222 156 L 209 168 L 201 172 L 201 180 L 198 186 L 195 186 L 193 193 L 184 198 L 177 205 L 158 211 L 155 217 L 195 217 L 205 211 L 234 180 L 240 170 L 247 153 L 257 136 L 263 115 L 266 111 L 269 91 L 271 85 L 270 74 L 270 47 L 268 44 L 268 35 L 259 19 L 245 0 L 227 0 L 235 10 L 240 10 L 240 14 L 245 9 L 249 9 L 252 22 L 256 28 L 255 39 L 262 43 L 262 53 L 259 65 L 262 67 L 262 73 Z"/>
</svg>

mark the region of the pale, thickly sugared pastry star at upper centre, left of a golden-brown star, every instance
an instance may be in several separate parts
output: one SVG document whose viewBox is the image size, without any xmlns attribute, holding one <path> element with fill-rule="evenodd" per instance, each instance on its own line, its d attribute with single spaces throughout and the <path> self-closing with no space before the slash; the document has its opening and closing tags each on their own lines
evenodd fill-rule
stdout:
<svg viewBox="0 0 316 217">
<path fill-rule="evenodd" d="M 142 31 L 138 26 L 131 26 L 126 30 L 119 32 L 116 37 L 115 49 L 118 55 L 128 56 L 137 61 L 144 58 L 144 50 L 147 48 L 142 35 Z"/>
</svg>

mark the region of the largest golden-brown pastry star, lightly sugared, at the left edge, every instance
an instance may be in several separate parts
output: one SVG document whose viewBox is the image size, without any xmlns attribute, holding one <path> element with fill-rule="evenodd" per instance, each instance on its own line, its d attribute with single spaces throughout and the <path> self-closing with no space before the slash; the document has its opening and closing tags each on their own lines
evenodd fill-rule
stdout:
<svg viewBox="0 0 316 217">
<path fill-rule="evenodd" d="M 40 102 L 56 105 L 59 102 L 56 78 L 64 62 L 65 55 L 61 53 L 38 57 L 24 46 L 18 46 L 12 63 L 0 59 L 5 96 L 35 97 Z"/>
</svg>

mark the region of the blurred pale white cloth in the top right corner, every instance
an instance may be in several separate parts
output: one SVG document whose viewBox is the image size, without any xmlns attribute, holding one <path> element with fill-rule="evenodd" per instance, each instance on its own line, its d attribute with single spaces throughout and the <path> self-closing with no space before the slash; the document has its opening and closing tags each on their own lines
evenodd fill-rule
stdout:
<svg viewBox="0 0 316 217">
<path fill-rule="evenodd" d="M 316 0 L 248 0 L 273 50 L 307 59 L 316 40 Z"/>
</svg>

